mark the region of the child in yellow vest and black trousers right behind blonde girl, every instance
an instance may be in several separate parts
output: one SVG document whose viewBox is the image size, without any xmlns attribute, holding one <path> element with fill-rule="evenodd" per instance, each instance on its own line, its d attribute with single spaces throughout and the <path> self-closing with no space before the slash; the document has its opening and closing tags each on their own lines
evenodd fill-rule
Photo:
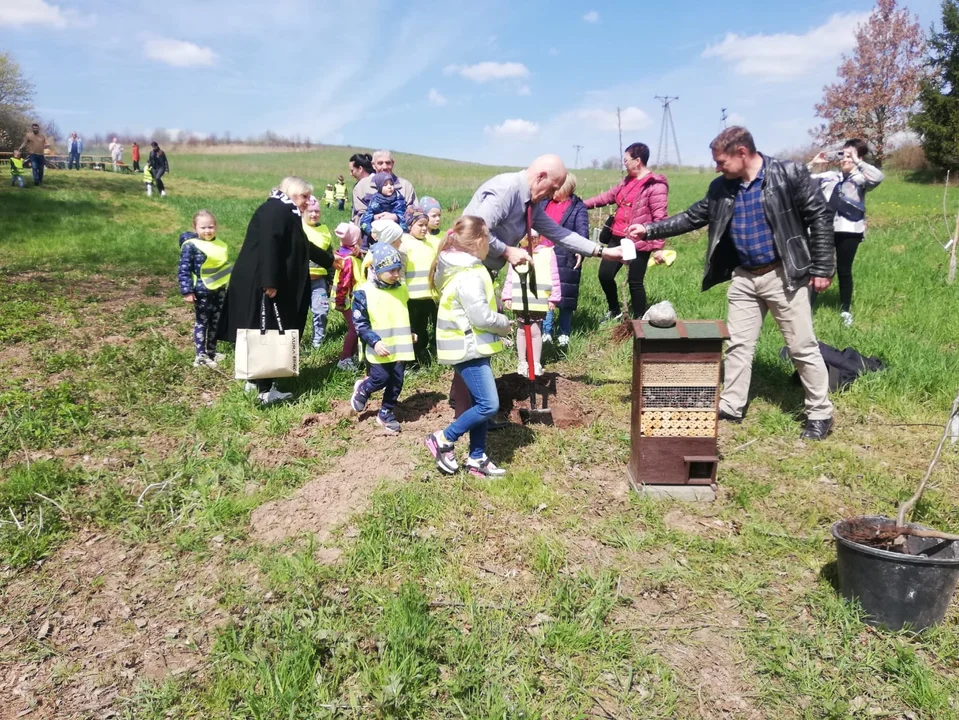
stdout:
<svg viewBox="0 0 959 720">
<path fill-rule="evenodd" d="M 423 208 L 411 205 L 406 211 L 407 227 L 402 247 L 406 253 L 406 287 L 410 292 L 410 324 L 416 336 L 414 353 L 417 365 L 429 365 L 430 325 L 436 325 L 436 301 L 430 287 L 430 268 L 436 257 L 436 245 L 428 237 L 429 219 Z"/>
</svg>

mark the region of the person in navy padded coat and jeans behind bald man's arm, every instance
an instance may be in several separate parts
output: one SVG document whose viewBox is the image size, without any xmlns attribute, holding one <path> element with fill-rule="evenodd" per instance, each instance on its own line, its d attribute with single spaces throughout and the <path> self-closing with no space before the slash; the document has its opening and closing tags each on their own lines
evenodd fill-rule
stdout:
<svg viewBox="0 0 959 720">
<path fill-rule="evenodd" d="M 543 200 L 543 211 L 557 224 L 568 230 L 589 237 L 589 213 L 586 205 L 575 195 L 576 176 L 569 173 L 566 182 L 553 193 L 551 200 Z M 560 347 L 569 345 L 569 334 L 573 328 L 573 311 L 579 303 L 579 281 L 583 274 L 583 257 L 577 253 L 564 250 L 554 245 L 556 264 L 559 266 L 559 283 L 561 297 L 559 300 L 558 336 L 556 342 Z M 543 340 L 551 342 L 553 330 L 553 315 L 547 313 L 543 321 Z"/>
</svg>

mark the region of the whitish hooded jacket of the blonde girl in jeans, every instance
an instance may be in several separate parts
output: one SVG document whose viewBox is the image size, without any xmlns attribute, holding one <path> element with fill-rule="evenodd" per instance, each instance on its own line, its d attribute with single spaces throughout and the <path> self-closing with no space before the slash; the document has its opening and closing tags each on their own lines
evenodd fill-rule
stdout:
<svg viewBox="0 0 959 720">
<path fill-rule="evenodd" d="M 436 263 L 436 275 L 433 277 L 433 284 L 442 294 L 443 287 L 453 277 L 463 270 L 472 267 L 479 267 L 486 272 L 482 261 L 464 252 L 458 250 L 445 250 L 440 253 L 439 260 Z M 466 355 L 462 360 L 456 363 L 441 364 L 452 365 L 467 360 L 475 360 L 483 357 L 476 350 L 476 335 L 478 333 L 491 333 L 493 335 L 509 335 L 509 318 L 502 313 L 490 310 L 489 298 L 486 297 L 486 284 L 478 276 L 467 276 L 456 284 L 453 292 L 453 321 L 460 330 L 466 333 Z M 472 329 L 472 332 L 467 332 Z"/>
</svg>

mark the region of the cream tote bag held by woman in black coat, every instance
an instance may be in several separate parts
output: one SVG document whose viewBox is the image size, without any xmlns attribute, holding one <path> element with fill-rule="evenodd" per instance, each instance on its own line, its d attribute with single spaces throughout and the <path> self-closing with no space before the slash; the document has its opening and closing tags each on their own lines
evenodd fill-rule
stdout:
<svg viewBox="0 0 959 720">
<path fill-rule="evenodd" d="M 269 380 L 300 374 L 300 331 L 284 330 L 272 300 L 279 330 L 266 329 L 266 294 L 260 301 L 260 327 L 236 331 L 237 380 Z"/>
</svg>

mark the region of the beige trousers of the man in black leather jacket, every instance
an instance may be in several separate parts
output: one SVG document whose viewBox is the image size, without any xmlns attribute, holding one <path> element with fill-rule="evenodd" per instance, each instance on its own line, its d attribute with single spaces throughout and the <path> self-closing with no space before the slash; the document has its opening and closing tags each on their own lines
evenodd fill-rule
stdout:
<svg viewBox="0 0 959 720">
<path fill-rule="evenodd" d="M 826 420 L 832 417 L 829 401 L 829 375 L 812 326 L 809 287 L 786 289 L 782 266 L 765 275 L 753 275 L 736 268 L 726 297 L 729 300 L 729 345 L 726 348 L 725 380 L 719 396 L 719 409 L 742 417 L 749 398 L 753 374 L 753 354 L 762 331 L 766 312 L 771 312 L 786 341 L 799 379 L 806 391 L 806 417 Z"/>
</svg>

